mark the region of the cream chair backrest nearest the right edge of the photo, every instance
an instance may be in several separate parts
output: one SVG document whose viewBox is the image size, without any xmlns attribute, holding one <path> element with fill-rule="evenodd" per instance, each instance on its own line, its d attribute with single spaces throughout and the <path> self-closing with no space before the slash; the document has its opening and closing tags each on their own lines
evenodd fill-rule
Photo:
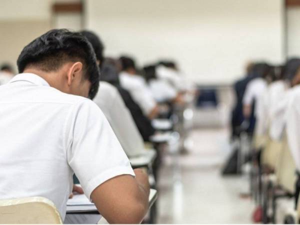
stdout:
<svg viewBox="0 0 300 225">
<path fill-rule="evenodd" d="M 283 147 L 279 154 L 278 168 L 276 169 L 277 182 L 285 190 L 294 193 L 296 166 L 288 146 L 286 135 L 283 137 L 282 144 Z"/>
</svg>

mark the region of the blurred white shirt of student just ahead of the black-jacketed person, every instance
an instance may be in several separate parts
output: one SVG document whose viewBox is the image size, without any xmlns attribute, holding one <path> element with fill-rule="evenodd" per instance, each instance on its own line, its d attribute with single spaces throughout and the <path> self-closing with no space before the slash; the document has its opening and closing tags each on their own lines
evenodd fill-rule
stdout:
<svg viewBox="0 0 300 225">
<path fill-rule="evenodd" d="M 150 114 L 156 101 L 145 80 L 138 75 L 131 75 L 125 71 L 119 74 L 121 86 L 128 90 L 133 100 L 141 107 L 145 115 Z"/>
</svg>

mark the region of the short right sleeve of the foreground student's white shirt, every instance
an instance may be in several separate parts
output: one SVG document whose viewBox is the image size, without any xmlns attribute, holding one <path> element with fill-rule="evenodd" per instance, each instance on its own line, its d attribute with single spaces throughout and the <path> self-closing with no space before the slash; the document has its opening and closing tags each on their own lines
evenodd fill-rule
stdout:
<svg viewBox="0 0 300 225">
<path fill-rule="evenodd" d="M 66 126 L 67 161 L 85 195 L 117 175 L 134 176 L 130 162 L 100 108 L 91 100 L 77 103 Z"/>
</svg>

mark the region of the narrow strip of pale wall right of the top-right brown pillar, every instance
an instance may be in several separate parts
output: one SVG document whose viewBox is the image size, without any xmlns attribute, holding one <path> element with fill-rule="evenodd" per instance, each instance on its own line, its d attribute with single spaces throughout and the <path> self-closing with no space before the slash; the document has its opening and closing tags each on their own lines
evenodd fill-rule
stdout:
<svg viewBox="0 0 300 225">
<path fill-rule="evenodd" d="M 300 57 L 300 7 L 288 7 L 287 15 L 287 55 Z"/>
</svg>

